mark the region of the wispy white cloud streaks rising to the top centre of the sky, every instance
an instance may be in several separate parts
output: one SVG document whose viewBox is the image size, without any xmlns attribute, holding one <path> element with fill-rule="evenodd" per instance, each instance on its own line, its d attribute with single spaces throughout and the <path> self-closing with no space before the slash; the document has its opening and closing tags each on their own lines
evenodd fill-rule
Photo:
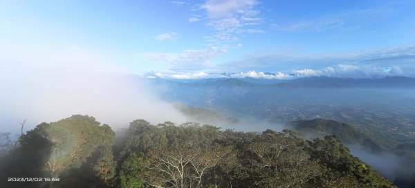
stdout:
<svg viewBox="0 0 415 188">
<path fill-rule="evenodd" d="M 176 5 L 185 4 L 184 1 L 172 1 Z M 264 33 L 257 26 L 262 21 L 259 17 L 256 0 L 225 0 L 205 1 L 198 11 L 203 15 L 192 15 L 187 21 L 207 21 L 207 25 L 214 29 L 214 34 L 204 37 L 208 41 L 208 48 L 187 49 L 181 53 L 147 53 L 145 59 L 167 64 L 169 70 L 196 71 L 214 68 L 212 58 L 227 52 L 228 42 L 236 41 L 240 33 Z M 255 26 L 255 28 L 252 28 Z M 156 36 L 159 41 L 175 39 L 176 32 L 166 32 Z M 221 46 L 221 47 L 217 47 Z"/>
</svg>

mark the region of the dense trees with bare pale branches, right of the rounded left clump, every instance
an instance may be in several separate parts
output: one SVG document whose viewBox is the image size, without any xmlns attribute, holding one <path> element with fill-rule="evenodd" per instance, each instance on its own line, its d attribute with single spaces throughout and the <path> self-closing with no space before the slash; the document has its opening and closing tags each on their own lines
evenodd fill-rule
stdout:
<svg viewBox="0 0 415 188">
<path fill-rule="evenodd" d="M 122 156 L 121 187 L 393 187 L 335 135 L 136 120 Z"/>
</svg>

